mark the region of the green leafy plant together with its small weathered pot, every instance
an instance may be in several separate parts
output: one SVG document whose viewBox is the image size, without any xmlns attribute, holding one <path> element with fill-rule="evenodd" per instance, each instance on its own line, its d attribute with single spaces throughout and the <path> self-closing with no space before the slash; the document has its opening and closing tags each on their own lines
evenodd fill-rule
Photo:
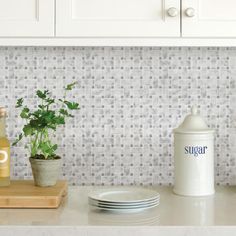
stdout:
<svg viewBox="0 0 236 236">
<path fill-rule="evenodd" d="M 79 109 L 77 102 L 66 99 L 67 92 L 75 85 L 76 83 L 68 84 L 60 99 L 54 98 L 48 90 L 37 90 L 39 101 L 36 109 L 26 106 L 23 98 L 17 100 L 16 108 L 21 108 L 20 117 L 26 123 L 13 145 L 23 137 L 28 140 L 26 148 L 30 152 L 29 160 L 36 186 L 53 186 L 57 182 L 61 157 L 56 154 L 58 145 L 50 137 L 68 118 L 73 117 L 73 110 Z"/>
</svg>

